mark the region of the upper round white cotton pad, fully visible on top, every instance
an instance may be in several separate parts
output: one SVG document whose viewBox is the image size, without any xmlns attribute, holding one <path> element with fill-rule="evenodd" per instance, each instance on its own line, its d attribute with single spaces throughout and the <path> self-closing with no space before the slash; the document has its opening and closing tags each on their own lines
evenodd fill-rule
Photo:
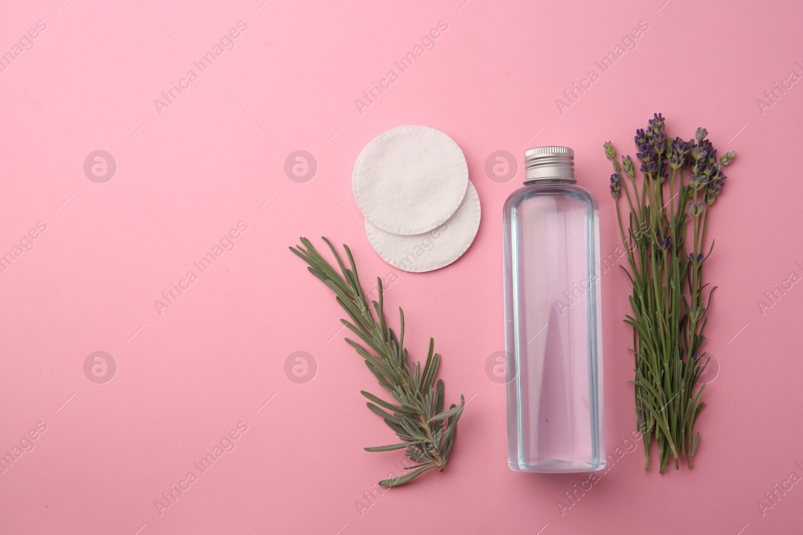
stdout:
<svg viewBox="0 0 803 535">
<path fill-rule="evenodd" d="M 446 221 L 466 194 L 463 151 L 426 126 L 393 128 L 362 149 L 352 187 L 362 215 L 394 234 L 421 234 Z"/>
</svg>

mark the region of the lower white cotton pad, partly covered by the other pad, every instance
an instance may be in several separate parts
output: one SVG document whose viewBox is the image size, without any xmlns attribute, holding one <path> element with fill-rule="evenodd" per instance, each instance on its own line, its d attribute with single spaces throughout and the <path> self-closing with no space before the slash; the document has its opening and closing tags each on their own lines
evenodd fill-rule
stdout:
<svg viewBox="0 0 803 535">
<path fill-rule="evenodd" d="M 479 196 L 468 183 L 466 195 L 452 217 L 426 233 L 402 236 L 385 232 L 365 218 L 365 233 L 373 250 L 400 270 L 422 273 L 449 265 L 466 252 L 479 229 Z"/>
</svg>

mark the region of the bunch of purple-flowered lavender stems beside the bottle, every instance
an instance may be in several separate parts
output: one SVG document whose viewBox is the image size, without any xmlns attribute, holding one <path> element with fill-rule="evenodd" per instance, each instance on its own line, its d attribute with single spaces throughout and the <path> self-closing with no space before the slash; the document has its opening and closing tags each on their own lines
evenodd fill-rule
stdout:
<svg viewBox="0 0 803 535">
<path fill-rule="evenodd" d="M 634 137 L 641 180 L 630 156 L 622 156 L 620 164 L 613 144 L 604 145 L 613 162 L 610 191 L 630 264 L 629 270 L 622 269 L 633 284 L 633 315 L 626 315 L 625 322 L 633 327 L 635 377 L 630 383 L 644 440 L 644 468 L 650 468 L 654 438 L 660 472 L 670 456 L 675 468 L 684 456 L 691 468 L 700 436 L 695 422 L 705 406 L 706 385 L 698 381 L 710 360 L 701 347 L 715 289 L 706 292 L 703 283 L 703 265 L 714 247 L 713 240 L 707 242 L 708 216 L 728 178 L 723 170 L 736 156 L 726 152 L 717 158 L 707 135 L 698 128 L 692 140 L 672 140 L 664 118 L 655 114 Z M 630 208 L 625 221 L 622 191 Z"/>
</svg>

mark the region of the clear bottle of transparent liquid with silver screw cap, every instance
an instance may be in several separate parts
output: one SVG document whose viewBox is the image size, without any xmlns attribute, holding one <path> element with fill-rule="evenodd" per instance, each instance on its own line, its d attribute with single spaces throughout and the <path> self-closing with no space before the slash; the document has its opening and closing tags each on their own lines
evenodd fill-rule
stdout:
<svg viewBox="0 0 803 535">
<path fill-rule="evenodd" d="M 605 468 L 599 213 L 574 151 L 524 156 L 504 205 L 507 460 L 520 472 Z"/>
</svg>

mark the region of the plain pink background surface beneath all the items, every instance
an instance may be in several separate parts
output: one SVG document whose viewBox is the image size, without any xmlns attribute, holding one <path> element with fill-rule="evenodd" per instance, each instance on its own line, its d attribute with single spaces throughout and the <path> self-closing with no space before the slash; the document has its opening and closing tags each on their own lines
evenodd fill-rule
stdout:
<svg viewBox="0 0 803 535">
<path fill-rule="evenodd" d="M 0 274 L 0 453 L 47 426 L 0 475 L 0 533 L 800 531 L 803 483 L 763 516 L 756 505 L 803 476 L 803 286 L 756 303 L 803 275 L 803 87 L 756 103 L 803 75 L 797 2 L 62 2 L 6 1 L 0 17 L 0 53 L 47 25 L 0 73 L 0 253 L 47 225 Z M 234 49 L 199 73 L 193 62 L 241 20 Z M 400 73 L 393 61 L 439 21 L 434 50 Z M 640 21 L 634 50 L 561 113 L 556 99 L 600 74 L 595 60 Z M 190 69 L 198 79 L 157 111 Z M 398 79 L 358 111 L 391 69 Z M 707 263 L 719 285 L 707 349 L 721 371 L 695 468 L 645 472 L 637 442 L 561 515 L 556 502 L 588 476 L 507 468 L 504 386 L 485 371 L 503 350 L 501 207 L 522 178 L 491 180 L 485 163 L 573 147 L 605 256 L 619 237 L 602 143 L 634 154 L 654 111 L 671 136 L 704 126 L 720 152 L 739 152 Z M 361 148 L 404 124 L 458 142 L 483 205 L 474 245 L 428 274 L 373 253 L 351 192 Z M 96 150 L 116 160 L 103 184 L 83 170 Z M 297 150 L 318 167 L 305 183 L 283 170 Z M 159 314 L 154 300 L 238 221 L 234 250 Z M 446 472 L 373 501 L 365 492 L 404 457 L 362 450 L 394 439 L 359 393 L 378 387 L 342 341 L 331 292 L 287 250 L 321 234 L 353 247 L 364 281 L 393 278 L 387 300 L 405 307 L 412 354 L 434 336 L 447 403 L 471 399 Z M 632 357 L 626 279 L 602 281 L 611 453 L 635 427 Z M 112 355 L 112 381 L 84 375 L 93 351 Z M 295 351 L 315 359 L 314 380 L 288 379 Z M 160 515 L 154 501 L 238 422 L 234 450 Z"/>
</svg>

